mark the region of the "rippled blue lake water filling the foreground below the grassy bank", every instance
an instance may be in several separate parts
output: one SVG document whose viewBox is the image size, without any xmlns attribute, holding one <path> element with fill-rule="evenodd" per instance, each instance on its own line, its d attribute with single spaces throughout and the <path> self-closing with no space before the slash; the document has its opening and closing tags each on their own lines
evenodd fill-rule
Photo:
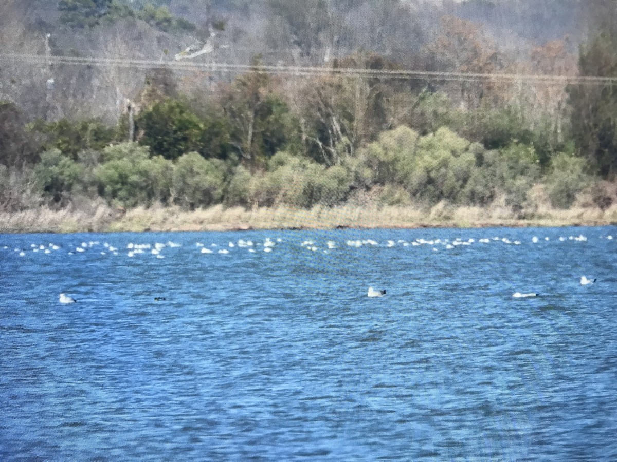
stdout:
<svg viewBox="0 0 617 462">
<path fill-rule="evenodd" d="M 616 270 L 615 227 L 0 235 L 0 460 L 617 460 Z"/>
</svg>

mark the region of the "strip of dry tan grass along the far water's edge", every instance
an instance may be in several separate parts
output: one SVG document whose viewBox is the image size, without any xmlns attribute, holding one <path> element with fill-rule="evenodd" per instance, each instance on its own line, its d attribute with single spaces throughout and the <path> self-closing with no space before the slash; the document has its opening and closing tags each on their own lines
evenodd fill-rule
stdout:
<svg viewBox="0 0 617 462">
<path fill-rule="evenodd" d="M 332 229 L 479 229 L 617 225 L 617 206 L 543 208 L 517 217 L 504 207 L 340 206 L 312 209 L 223 208 L 187 211 L 152 206 L 127 211 L 96 205 L 85 210 L 49 208 L 0 212 L 0 233 L 198 232 Z"/>
</svg>

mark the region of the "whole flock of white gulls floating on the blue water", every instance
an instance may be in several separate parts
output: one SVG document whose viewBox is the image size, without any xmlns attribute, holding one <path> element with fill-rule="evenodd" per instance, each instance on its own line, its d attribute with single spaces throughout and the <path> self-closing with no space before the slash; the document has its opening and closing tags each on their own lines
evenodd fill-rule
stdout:
<svg viewBox="0 0 617 462">
<path fill-rule="evenodd" d="M 612 235 L 602 235 L 598 237 L 599 239 L 605 239 L 608 241 L 613 240 Z M 549 237 L 537 237 L 534 236 L 529 241 L 532 245 L 537 245 L 542 242 L 548 242 L 551 239 Z M 563 243 L 565 241 L 574 241 L 574 242 L 586 242 L 588 238 L 582 234 L 578 236 L 560 236 L 555 239 L 555 241 Z M 228 241 L 228 243 L 210 243 L 210 245 L 205 245 L 202 242 L 197 241 L 194 243 L 194 248 L 198 249 L 200 254 L 220 254 L 220 255 L 228 255 L 231 253 L 239 253 L 241 251 L 245 251 L 251 254 L 257 254 L 258 252 L 262 253 L 273 253 L 277 246 L 280 246 L 283 243 L 281 238 L 276 238 L 272 240 L 270 237 L 265 238 L 263 241 L 252 241 L 252 240 L 244 240 L 239 239 L 237 241 Z M 463 240 L 461 238 L 455 238 L 454 240 L 449 239 L 424 239 L 417 238 L 416 240 L 386 240 L 383 242 L 378 242 L 373 239 L 356 239 L 356 240 L 344 240 L 344 241 L 334 241 L 327 240 L 324 242 L 319 242 L 317 240 L 304 240 L 299 243 L 299 248 L 304 249 L 309 253 L 335 253 L 337 250 L 340 251 L 342 248 L 361 248 L 361 247 L 376 247 L 376 248 L 408 248 L 408 247 L 421 247 L 426 246 L 431 248 L 431 251 L 438 252 L 441 250 L 451 250 L 457 247 L 466 247 L 466 246 L 479 246 L 479 245 L 513 245 L 519 246 L 523 245 L 523 241 L 521 240 L 510 240 L 507 237 L 486 237 L 475 240 L 474 238 L 468 238 Z M 84 241 L 78 245 L 72 246 L 61 246 L 55 243 L 48 244 L 38 244 L 32 243 L 30 244 L 30 248 L 14 248 L 14 253 L 19 257 L 26 257 L 28 254 L 41 254 L 41 255 L 49 255 L 54 253 L 64 253 L 69 256 L 77 255 L 77 254 L 91 254 L 98 253 L 101 256 L 126 256 L 128 258 L 135 258 L 136 256 L 141 255 L 149 255 L 155 257 L 157 259 L 165 258 L 165 251 L 167 249 L 179 248 L 183 247 L 180 243 L 174 243 L 172 241 L 167 241 L 167 243 L 127 243 L 125 246 L 114 246 L 110 245 L 107 242 L 101 243 L 100 241 Z M 2 249 L 5 251 L 10 250 L 9 246 L 2 246 Z M 596 282 L 595 278 L 588 278 L 586 275 L 581 276 L 580 284 L 583 286 L 593 285 Z M 373 287 L 368 289 L 367 296 L 369 298 L 382 297 L 386 294 L 386 290 L 374 290 Z M 524 293 L 520 291 L 516 291 L 512 294 L 513 298 L 533 298 L 538 296 L 536 293 Z M 70 296 L 65 295 L 64 293 L 59 295 L 60 303 L 73 303 L 75 299 Z"/>
</svg>

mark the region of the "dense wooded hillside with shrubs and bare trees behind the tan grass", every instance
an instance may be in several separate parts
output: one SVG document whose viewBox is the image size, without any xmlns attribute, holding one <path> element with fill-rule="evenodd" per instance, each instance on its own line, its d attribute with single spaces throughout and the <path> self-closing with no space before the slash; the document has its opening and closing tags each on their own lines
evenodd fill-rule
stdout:
<svg viewBox="0 0 617 462">
<path fill-rule="evenodd" d="M 617 200 L 617 6 L 7 0 L 0 209 Z"/>
</svg>

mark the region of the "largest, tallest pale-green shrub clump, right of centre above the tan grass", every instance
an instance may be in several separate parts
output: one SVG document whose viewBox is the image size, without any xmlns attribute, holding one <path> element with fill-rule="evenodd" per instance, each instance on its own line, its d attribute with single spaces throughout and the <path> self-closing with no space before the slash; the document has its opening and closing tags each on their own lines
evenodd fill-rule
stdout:
<svg viewBox="0 0 617 462">
<path fill-rule="evenodd" d="M 444 200 L 486 205 L 505 194 L 509 205 L 521 208 L 527 190 L 540 176 L 531 145 L 486 151 L 444 127 L 421 137 L 405 127 L 384 132 L 361 150 L 360 157 L 374 172 L 373 182 L 386 186 L 383 203 L 406 201 L 398 185 L 426 205 Z"/>
</svg>

